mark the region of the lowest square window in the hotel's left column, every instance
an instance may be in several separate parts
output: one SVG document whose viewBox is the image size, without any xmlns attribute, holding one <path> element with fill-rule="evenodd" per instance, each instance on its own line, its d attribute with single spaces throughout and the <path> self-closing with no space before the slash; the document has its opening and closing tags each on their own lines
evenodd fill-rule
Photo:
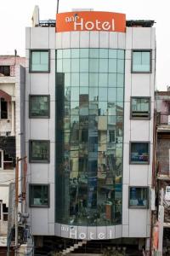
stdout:
<svg viewBox="0 0 170 256">
<path fill-rule="evenodd" d="M 30 184 L 30 207 L 49 207 L 49 185 Z"/>
</svg>

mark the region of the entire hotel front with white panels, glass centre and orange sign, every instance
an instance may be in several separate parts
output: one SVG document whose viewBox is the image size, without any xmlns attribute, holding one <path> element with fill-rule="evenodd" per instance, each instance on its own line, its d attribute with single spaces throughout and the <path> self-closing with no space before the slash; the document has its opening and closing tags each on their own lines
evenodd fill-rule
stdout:
<svg viewBox="0 0 170 256">
<path fill-rule="evenodd" d="M 26 28 L 31 232 L 149 245 L 154 21 L 59 15 Z"/>
</svg>

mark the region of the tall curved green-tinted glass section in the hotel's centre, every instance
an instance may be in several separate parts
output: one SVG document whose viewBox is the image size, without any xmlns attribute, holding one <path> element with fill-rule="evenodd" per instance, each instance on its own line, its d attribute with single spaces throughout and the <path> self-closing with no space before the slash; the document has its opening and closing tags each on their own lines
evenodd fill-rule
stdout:
<svg viewBox="0 0 170 256">
<path fill-rule="evenodd" d="M 124 50 L 56 51 L 56 222 L 122 223 Z"/>
</svg>

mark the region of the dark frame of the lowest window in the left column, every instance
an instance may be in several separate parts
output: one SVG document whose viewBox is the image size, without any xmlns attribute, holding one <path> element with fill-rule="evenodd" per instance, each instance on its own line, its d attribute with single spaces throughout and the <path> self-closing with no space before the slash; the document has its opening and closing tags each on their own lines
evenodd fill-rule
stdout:
<svg viewBox="0 0 170 256">
<path fill-rule="evenodd" d="M 32 196 L 32 191 L 31 188 L 33 186 L 47 186 L 48 187 L 48 204 L 47 205 L 35 205 L 31 204 L 31 199 L 33 198 Z M 31 208 L 49 208 L 50 207 L 50 185 L 48 183 L 29 183 L 29 207 Z"/>
</svg>

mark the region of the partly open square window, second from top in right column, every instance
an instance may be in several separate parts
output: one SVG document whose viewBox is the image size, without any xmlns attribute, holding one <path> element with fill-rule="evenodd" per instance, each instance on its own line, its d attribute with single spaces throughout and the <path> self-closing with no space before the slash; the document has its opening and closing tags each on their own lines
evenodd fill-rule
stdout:
<svg viewBox="0 0 170 256">
<path fill-rule="evenodd" d="M 131 97 L 131 119 L 150 119 L 150 97 Z"/>
</svg>

